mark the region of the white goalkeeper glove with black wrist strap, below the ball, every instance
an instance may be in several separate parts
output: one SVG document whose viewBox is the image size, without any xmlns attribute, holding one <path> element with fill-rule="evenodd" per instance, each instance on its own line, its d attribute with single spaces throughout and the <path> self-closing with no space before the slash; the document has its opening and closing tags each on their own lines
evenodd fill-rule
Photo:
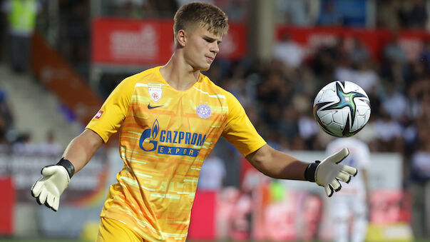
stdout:
<svg viewBox="0 0 430 242">
<path fill-rule="evenodd" d="M 332 156 L 325 158 L 324 161 L 310 163 L 304 171 L 304 177 L 307 181 L 314 181 L 319 186 L 324 186 L 325 193 L 330 197 L 334 191 L 339 191 L 342 188 L 339 181 L 349 183 L 351 176 L 357 175 L 356 168 L 340 164 L 348 155 L 348 149 L 342 148 Z"/>
</svg>

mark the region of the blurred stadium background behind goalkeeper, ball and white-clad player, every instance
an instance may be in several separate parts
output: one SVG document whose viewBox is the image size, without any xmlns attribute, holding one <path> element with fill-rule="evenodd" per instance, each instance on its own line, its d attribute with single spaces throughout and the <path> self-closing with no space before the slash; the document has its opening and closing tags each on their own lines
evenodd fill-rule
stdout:
<svg viewBox="0 0 430 242">
<path fill-rule="evenodd" d="M 57 213 L 30 187 L 123 78 L 168 61 L 173 14 L 188 0 L 23 1 L 36 7 L 1 1 L 0 241 L 91 241 L 122 167 L 116 137 L 73 177 Z M 430 241 L 430 1 L 208 2 L 230 31 L 205 74 L 275 148 L 321 158 L 331 137 L 312 118 L 317 91 L 336 79 L 367 91 L 372 116 L 357 135 L 372 151 L 367 241 Z M 262 176 L 222 139 L 210 160 L 189 240 L 332 240 L 323 189 Z M 309 196 L 318 202 L 304 205 Z"/>
</svg>

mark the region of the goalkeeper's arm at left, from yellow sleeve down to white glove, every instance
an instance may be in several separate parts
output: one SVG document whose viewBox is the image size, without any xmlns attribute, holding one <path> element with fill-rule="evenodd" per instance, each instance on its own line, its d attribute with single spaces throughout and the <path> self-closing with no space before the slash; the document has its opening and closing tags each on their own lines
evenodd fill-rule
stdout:
<svg viewBox="0 0 430 242">
<path fill-rule="evenodd" d="M 63 158 L 56 165 L 42 168 L 42 177 L 31 187 L 31 195 L 39 204 L 58 210 L 60 196 L 74 173 L 86 166 L 98 148 L 116 133 L 126 118 L 135 80 L 126 79 L 106 99 L 86 129 L 68 143 Z M 103 114 L 103 115 L 102 115 Z"/>
</svg>

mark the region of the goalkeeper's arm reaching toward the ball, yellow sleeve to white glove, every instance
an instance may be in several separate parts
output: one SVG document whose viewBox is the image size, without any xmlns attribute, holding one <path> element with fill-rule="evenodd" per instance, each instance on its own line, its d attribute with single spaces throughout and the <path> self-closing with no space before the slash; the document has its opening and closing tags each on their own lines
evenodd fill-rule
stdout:
<svg viewBox="0 0 430 242">
<path fill-rule="evenodd" d="M 339 181 L 349 182 L 351 175 L 357 174 L 356 168 L 339 164 L 348 156 L 347 148 L 342 148 L 324 161 L 314 163 L 298 161 L 292 156 L 275 150 L 257 133 L 245 114 L 245 109 L 235 96 L 226 91 L 225 97 L 229 112 L 222 136 L 232 143 L 252 166 L 265 175 L 316 182 L 319 186 L 324 186 L 327 196 L 332 196 L 334 191 L 342 188 Z"/>
</svg>

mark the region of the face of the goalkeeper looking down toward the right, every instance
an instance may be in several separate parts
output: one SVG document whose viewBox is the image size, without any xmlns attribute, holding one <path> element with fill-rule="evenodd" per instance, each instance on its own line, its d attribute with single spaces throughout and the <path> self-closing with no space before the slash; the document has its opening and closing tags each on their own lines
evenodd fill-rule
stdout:
<svg viewBox="0 0 430 242">
<path fill-rule="evenodd" d="M 222 35 L 216 35 L 205 27 L 198 26 L 188 33 L 188 40 L 184 47 L 185 59 L 193 69 L 207 71 L 215 56 L 220 51 Z"/>
</svg>

